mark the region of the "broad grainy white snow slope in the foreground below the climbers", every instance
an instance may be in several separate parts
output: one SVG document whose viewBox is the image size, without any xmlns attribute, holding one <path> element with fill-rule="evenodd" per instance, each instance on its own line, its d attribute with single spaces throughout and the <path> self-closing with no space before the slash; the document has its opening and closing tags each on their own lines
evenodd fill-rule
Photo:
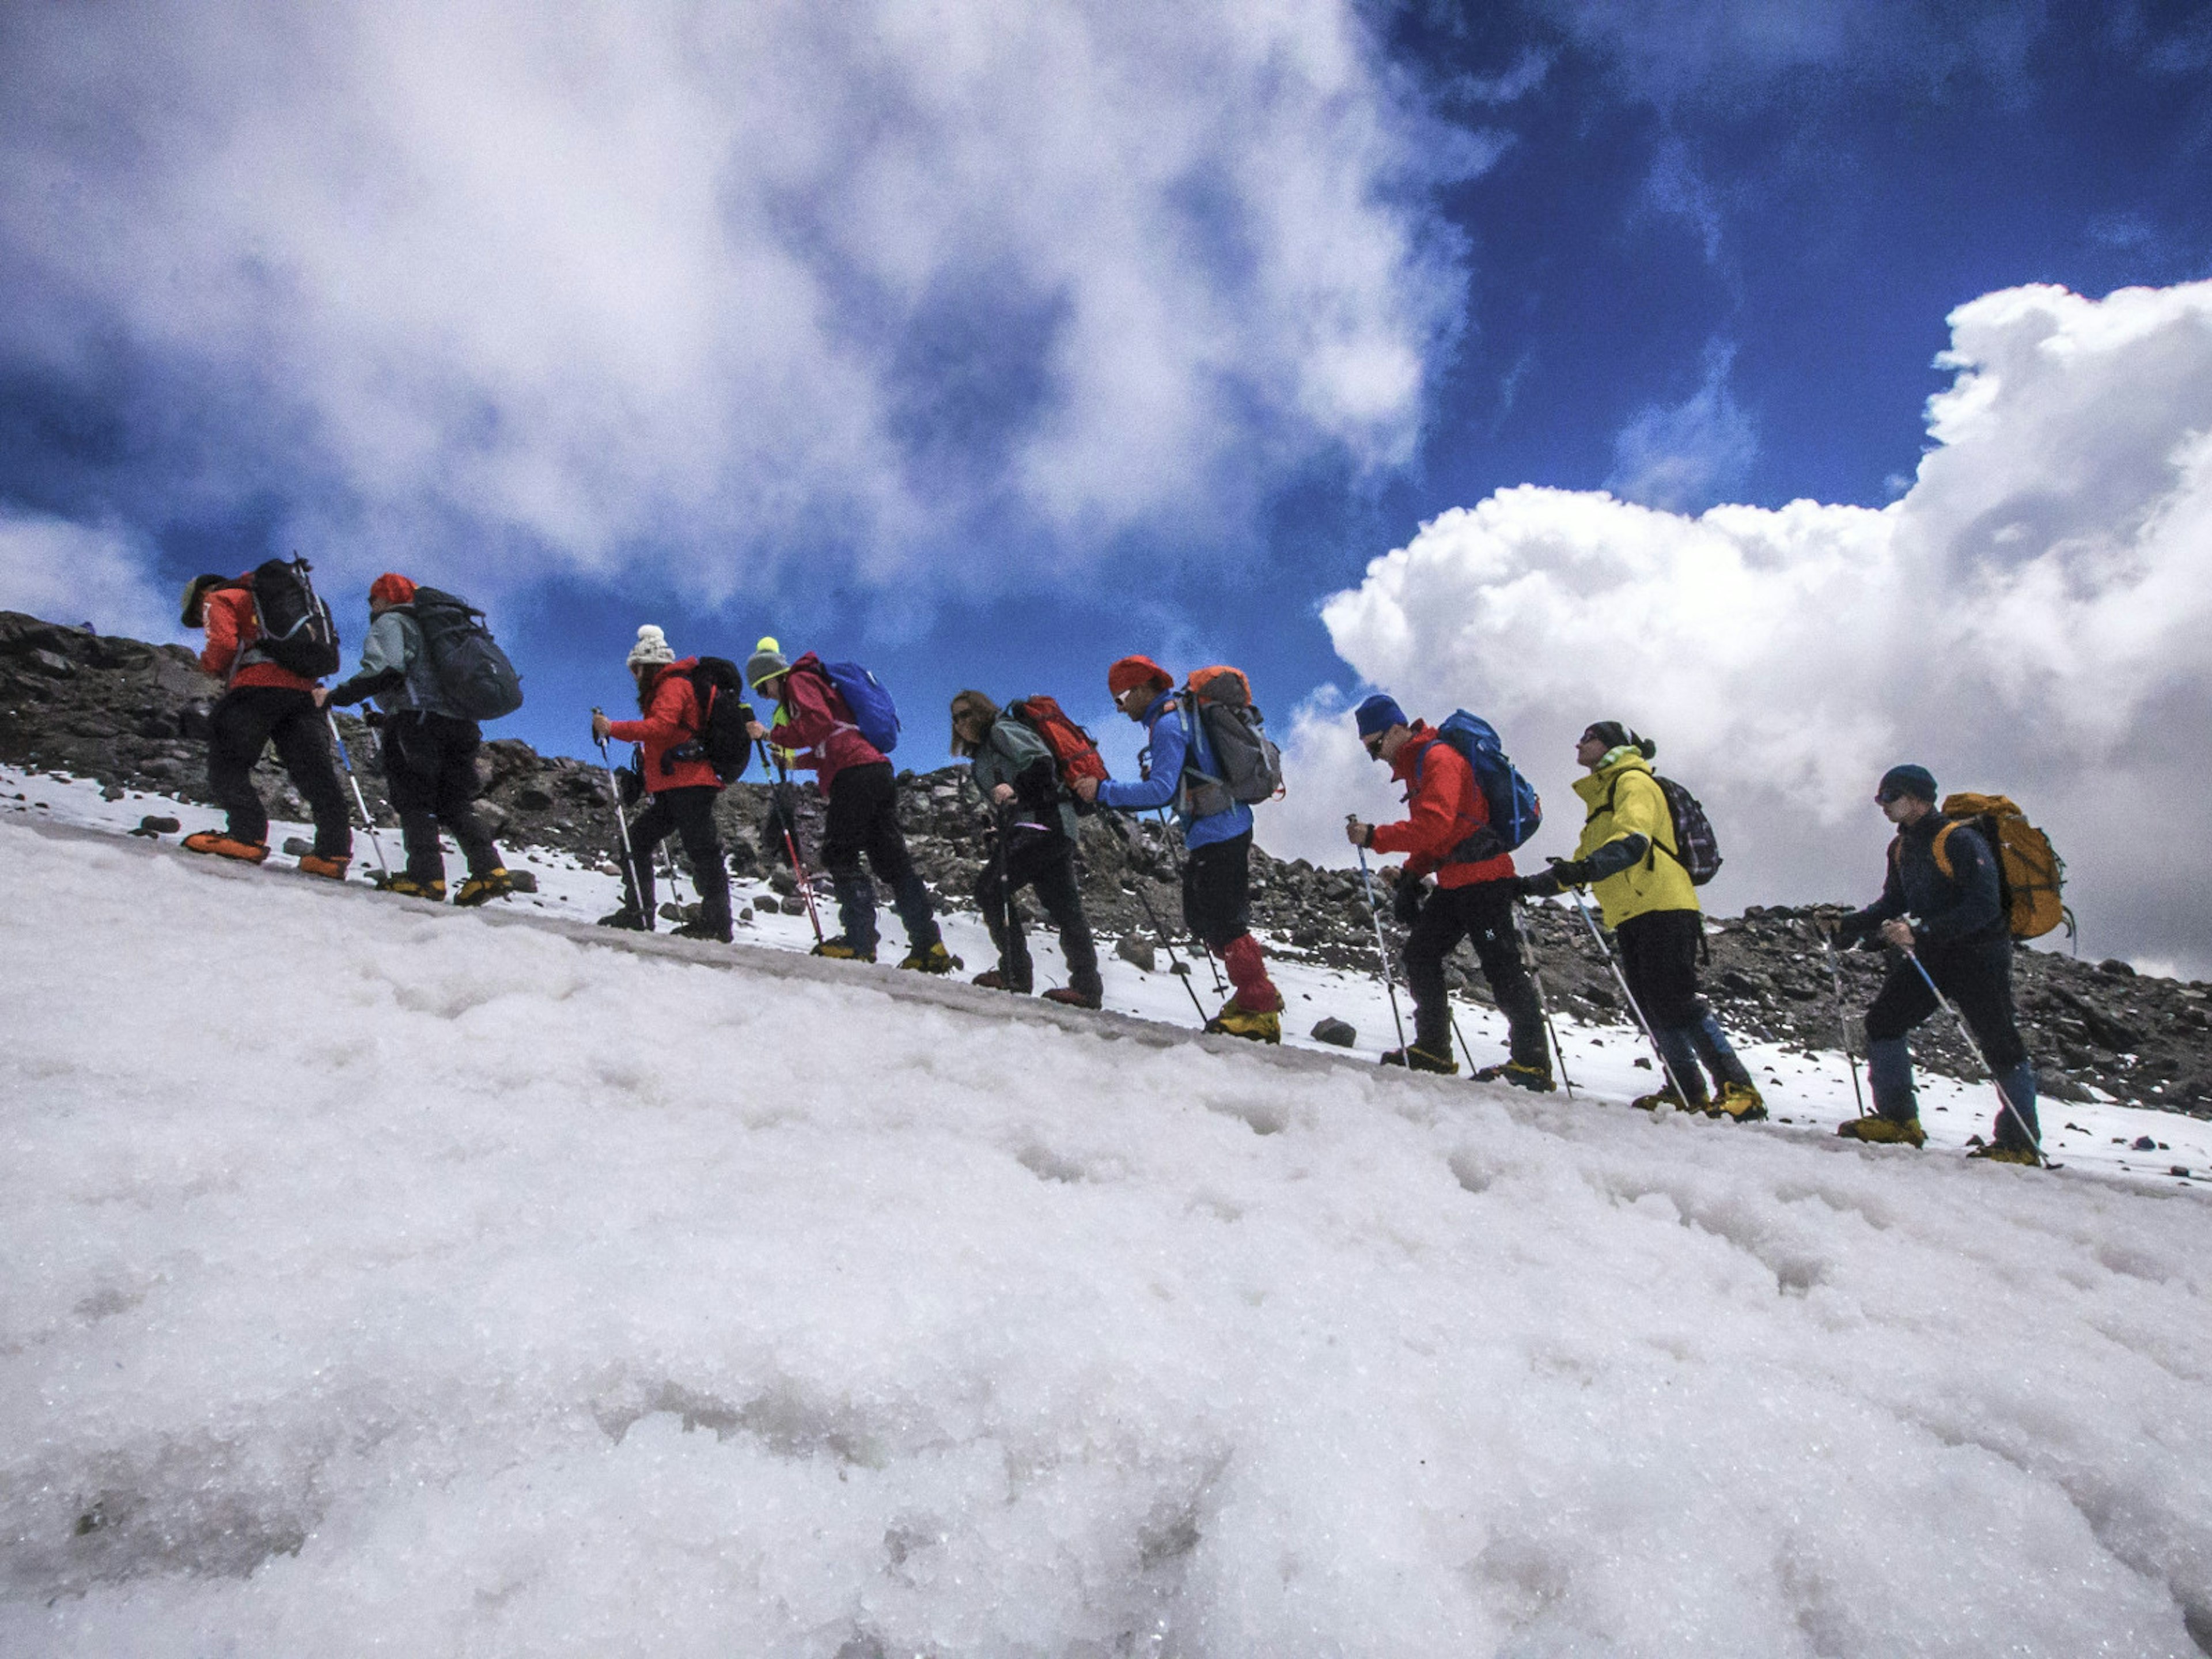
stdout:
<svg viewBox="0 0 2212 1659">
<path fill-rule="evenodd" d="M 2194 1186 L 4 823 L 0 942 L 7 1655 L 2212 1639 Z"/>
</svg>

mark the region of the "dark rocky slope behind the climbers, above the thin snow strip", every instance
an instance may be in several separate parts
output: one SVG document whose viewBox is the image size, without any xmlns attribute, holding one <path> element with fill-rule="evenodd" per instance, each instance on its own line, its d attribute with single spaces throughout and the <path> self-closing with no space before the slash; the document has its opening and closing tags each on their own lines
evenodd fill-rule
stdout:
<svg viewBox="0 0 2212 1659">
<path fill-rule="evenodd" d="M 181 646 L 148 646 L 0 613 L 0 761 L 97 779 L 117 796 L 146 790 L 208 801 L 204 748 L 181 734 L 186 710 L 221 692 Z M 394 823 L 376 772 L 376 734 L 338 717 L 369 810 Z M 480 761 L 480 810 L 495 834 L 515 845 L 562 849 L 608 860 L 615 823 L 606 772 L 597 761 L 542 757 L 529 743 L 493 739 Z M 281 816 L 305 816 L 283 774 L 263 763 L 263 799 Z M 900 818 L 916 863 L 949 905 L 964 907 L 984 858 L 984 814 L 962 768 L 900 774 Z M 774 790 L 757 779 L 732 785 L 721 801 L 723 838 L 737 874 L 761 876 L 799 907 L 796 880 L 783 867 L 781 843 L 763 836 Z M 801 841 L 812 852 L 821 812 L 812 790 L 796 790 Z M 1175 849 L 1157 823 L 1117 832 L 1106 816 L 1084 821 L 1084 898 L 1108 949 L 1148 958 L 1157 922 L 1175 927 Z M 606 863 L 613 874 L 613 863 Z M 1254 849 L 1254 925 L 1274 949 L 1332 967 L 1371 971 L 1374 922 L 1356 869 L 1316 869 Z M 1389 876 L 1385 874 L 1383 880 Z M 1856 887 L 1849 889 L 1856 896 Z M 1387 905 L 1385 905 L 1387 911 Z M 1838 1040 L 1829 962 L 1812 931 L 1812 907 L 1752 907 L 1712 922 L 1708 989 L 1739 1037 L 1803 1048 Z M 1396 927 L 1385 916 L 1396 947 Z M 1626 1022 L 1626 1009 L 1604 960 L 1566 905 L 1531 909 L 1546 998 L 1555 1011 L 1593 1022 Z M 1181 940 L 1177 938 L 1177 949 Z M 1453 982 L 1482 1000 L 1473 960 L 1462 953 Z M 1878 956 L 1838 958 L 1843 1002 L 1865 1006 L 1880 980 Z M 1203 969 L 1201 969 L 1203 973 Z M 2137 975 L 2126 962 L 2079 962 L 2028 949 L 2017 958 L 2022 1029 L 2053 1099 L 2084 1099 L 2097 1086 L 2115 1099 L 2212 1117 L 2212 987 Z M 1856 1022 L 1854 1048 L 1860 1044 Z M 1978 1075 L 1978 1064 L 1942 1015 L 1916 1035 L 1922 1062 L 1951 1075 Z"/>
</svg>

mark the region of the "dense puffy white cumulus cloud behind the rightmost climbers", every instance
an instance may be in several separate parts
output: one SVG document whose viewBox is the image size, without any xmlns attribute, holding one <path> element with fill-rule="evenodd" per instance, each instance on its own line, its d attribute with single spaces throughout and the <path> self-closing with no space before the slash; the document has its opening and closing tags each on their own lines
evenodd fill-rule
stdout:
<svg viewBox="0 0 2212 1659">
<path fill-rule="evenodd" d="M 1893 761 L 2002 790 L 2057 841 L 2088 947 L 2212 969 L 2212 283 L 1986 294 L 1951 314 L 1953 385 L 1911 491 L 1688 518 L 1506 489 L 1425 524 L 1323 619 L 1431 719 L 1493 717 L 1579 823 L 1590 719 L 1659 741 L 1723 836 L 1719 907 L 1869 898 Z M 1367 787 L 1294 743 L 1294 787 Z M 1327 854 L 1325 834 L 1267 832 Z M 1340 843 L 1338 843 L 1340 845 Z"/>
</svg>

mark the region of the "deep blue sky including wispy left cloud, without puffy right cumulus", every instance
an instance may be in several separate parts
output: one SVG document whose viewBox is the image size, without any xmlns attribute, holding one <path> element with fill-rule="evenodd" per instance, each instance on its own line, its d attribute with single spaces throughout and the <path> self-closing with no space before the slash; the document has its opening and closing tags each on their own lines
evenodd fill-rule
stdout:
<svg viewBox="0 0 2212 1659">
<path fill-rule="evenodd" d="M 863 657 L 914 765 L 1124 650 L 1287 717 L 1447 509 L 1878 509 L 1955 307 L 2212 274 L 2203 7 L 573 15 L 0 22 L 13 602 L 405 568 L 568 752 L 639 622 Z"/>
</svg>

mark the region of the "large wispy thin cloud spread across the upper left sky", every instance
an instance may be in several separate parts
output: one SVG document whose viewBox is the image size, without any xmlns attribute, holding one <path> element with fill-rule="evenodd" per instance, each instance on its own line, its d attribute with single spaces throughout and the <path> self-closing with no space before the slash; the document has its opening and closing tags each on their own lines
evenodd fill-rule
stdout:
<svg viewBox="0 0 2212 1659">
<path fill-rule="evenodd" d="M 975 515 L 1084 557 L 1274 469 L 1411 453 L 1482 166 L 1349 0 L 31 11 L 0 82 L 0 338 L 124 341 L 204 489 L 703 593 Z M 361 553 L 374 568 L 376 553 Z M 969 566 L 971 571 L 975 566 Z"/>
</svg>

